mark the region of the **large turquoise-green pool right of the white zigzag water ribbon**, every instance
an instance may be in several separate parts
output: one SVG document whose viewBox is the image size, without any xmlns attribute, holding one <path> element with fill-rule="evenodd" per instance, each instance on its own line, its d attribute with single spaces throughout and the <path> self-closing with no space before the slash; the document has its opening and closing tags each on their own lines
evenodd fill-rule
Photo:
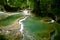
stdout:
<svg viewBox="0 0 60 40">
<path fill-rule="evenodd" d="M 24 22 L 24 34 L 25 38 L 29 38 L 27 40 L 49 40 L 49 32 L 54 30 L 55 23 L 41 23 L 39 18 L 29 17 Z M 27 31 L 27 32 L 26 32 Z M 51 40 L 56 36 L 55 34 L 51 36 Z M 29 37 L 30 36 L 30 37 Z"/>
</svg>

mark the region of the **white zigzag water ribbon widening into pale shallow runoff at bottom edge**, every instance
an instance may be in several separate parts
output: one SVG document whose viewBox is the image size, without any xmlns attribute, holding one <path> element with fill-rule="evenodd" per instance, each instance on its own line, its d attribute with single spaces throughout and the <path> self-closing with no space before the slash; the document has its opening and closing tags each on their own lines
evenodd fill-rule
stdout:
<svg viewBox="0 0 60 40">
<path fill-rule="evenodd" d="M 33 36 L 27 34 L 28 32 L 26 32 L 26 31 L 24 32 L 23 21 L 26 20 L 27 18 L 28 18 L 28 16 L 26 16 L 23 19 L 19 20 L 19 24 L 21 24 L 20 32 L 21 32 L 21 34 L 23 34 L 22 40 L 34 40 Z"/>
</svg>

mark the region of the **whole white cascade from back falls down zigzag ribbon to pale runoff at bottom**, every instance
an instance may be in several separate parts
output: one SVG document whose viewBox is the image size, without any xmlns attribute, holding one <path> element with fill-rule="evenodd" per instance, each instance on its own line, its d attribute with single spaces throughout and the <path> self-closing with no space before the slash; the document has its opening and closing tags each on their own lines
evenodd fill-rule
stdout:
<svg viewBox="0 0 60 40">
<path fill-rule="evenodd" d="M 28 10 L 25 9 L 23 11 L 23 14 L 29 16 L 30 15 L 30 12 L 28 12 Z M 22 18 L 21 20 L 19 20 L 19 24 L 21 25 L 20 26 L 20 32 L 21 32 L 21 34 L 23 34 L 22 40 L 26 40 L 27 38 L 29 38 L 29 40 L 33 40 L 33 37 L 32 36 L 28 35 L 27 33 L 24 33 L 23 21 L 26 20 L 28 18 L 28 16 L 26 16 L 26 17 Z"/>
</svg>

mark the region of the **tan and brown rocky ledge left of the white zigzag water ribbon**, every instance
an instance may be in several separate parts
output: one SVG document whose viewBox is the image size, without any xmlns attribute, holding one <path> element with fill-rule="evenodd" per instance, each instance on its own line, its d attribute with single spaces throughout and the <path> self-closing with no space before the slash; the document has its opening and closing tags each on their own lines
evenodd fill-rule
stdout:
<svg viewBox="0 0 60 40">
<path fill-rule="evenodd" d="M 20 17 L 20 18 L 22 18 L 22 17 Z M 20 18 L 15 20 L 10 25 L 1 26 L 0 34 L 4 35 L 8 40 L 21 40 L 23 36 L 20 32 L 20 24 L 19 24 Z"/>
</svg>

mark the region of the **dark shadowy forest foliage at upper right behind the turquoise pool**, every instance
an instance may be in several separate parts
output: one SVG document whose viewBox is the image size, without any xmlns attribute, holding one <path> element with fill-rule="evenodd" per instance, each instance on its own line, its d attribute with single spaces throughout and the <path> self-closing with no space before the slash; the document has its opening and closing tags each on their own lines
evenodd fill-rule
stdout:
<svg viewBox="0 0 60 40">
<path fill-rule="evenodd" d="M 51 15 L 60 15 L 60 6 L 59 0 L 37 0 L 33 1 L 33 9 L 36 15 L 39 16 L 48 16 Z"/>
</svg>

